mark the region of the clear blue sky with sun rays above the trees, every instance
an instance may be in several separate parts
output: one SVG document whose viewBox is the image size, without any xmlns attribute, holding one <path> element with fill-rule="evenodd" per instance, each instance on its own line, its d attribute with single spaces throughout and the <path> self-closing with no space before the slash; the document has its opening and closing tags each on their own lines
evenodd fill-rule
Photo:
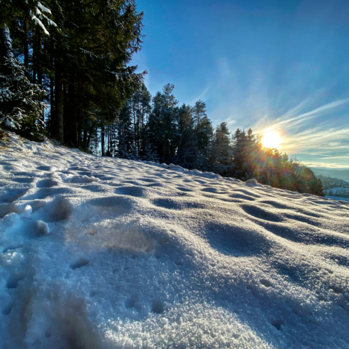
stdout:
<svg viewBox="0 0 349 349">
<path fill-rule="evenodd" d="M 136 0 L 154 95 L 201 99 L 214 126 L 279 131 L 281 151 L 349 169 L 348 0 Z"/>
</svg>

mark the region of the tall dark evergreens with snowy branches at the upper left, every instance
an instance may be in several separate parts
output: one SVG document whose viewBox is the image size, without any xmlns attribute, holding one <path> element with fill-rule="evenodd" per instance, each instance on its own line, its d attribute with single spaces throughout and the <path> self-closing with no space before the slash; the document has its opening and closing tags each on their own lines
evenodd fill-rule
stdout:
<svg viewBox="0 0 349 349">
<path fill-rule="evenodd" d="M 133 0 L 40 1 L 1 1 L 0 122 L 87 148 L 143 80 L 128 66 L 143 14 Z"/>
</svg>

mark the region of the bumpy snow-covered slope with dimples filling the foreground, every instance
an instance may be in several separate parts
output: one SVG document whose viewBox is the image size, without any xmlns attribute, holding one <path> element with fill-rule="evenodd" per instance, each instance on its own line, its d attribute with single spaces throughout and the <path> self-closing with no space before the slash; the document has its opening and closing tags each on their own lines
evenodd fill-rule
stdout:
<svg viewBox="0 0 349 349">
<path fill-rule="evenodd" d="M 0 348 L 348 348 L 348 202 L 11 138 Z"/>
</svg>

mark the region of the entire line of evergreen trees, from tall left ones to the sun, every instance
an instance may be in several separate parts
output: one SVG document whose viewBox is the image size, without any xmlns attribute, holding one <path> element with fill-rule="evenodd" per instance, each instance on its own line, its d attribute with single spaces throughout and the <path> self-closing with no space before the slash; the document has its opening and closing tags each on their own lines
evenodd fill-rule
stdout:
<svg viewBox="0 0 349 349">
<path fill-rule="evenodd" d="M 0 124 L 102 156 L 175 163 L 301 193 L 322 194 L 304 165 L 264 149 L 251 129 L 214 129 L 206 105 L 155 96 L 129 66 L 142 45 L 133 0 L 4 0 L 0 13 Z"/>
</svg>

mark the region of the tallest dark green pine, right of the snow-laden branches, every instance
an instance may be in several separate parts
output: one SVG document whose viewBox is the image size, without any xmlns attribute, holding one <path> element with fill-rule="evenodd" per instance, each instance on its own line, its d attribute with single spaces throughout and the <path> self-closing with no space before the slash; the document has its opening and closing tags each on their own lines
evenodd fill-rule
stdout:
<svg viewBox="0 0 349 349">
<path fill-rule="evenodd" d="M 74 143 L 76 134 L 89 134 L 91 121 L 95 128 L 112 122 L 110 110 L 120 109 L 140 86 L 144 73 L 127 64 L 141 47 L 142 13 L 133 0 L 58 0 L 52 13 L 62 29 L 52 47 L 52 134 L 62 138 L 63 127 L 64 141 Z"/>
</svg>

